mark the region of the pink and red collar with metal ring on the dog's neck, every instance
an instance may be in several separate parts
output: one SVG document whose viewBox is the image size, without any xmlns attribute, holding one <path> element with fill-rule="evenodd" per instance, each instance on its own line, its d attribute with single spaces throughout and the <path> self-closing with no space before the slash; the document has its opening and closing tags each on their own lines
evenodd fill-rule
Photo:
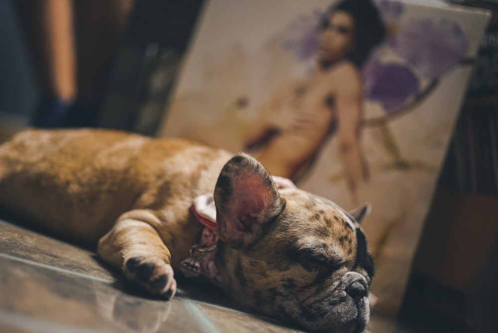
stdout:
<svg viewBox="0 0 498 333">
<path fill-rule="evenodd" d="M 215 285 L 221 286 L 221 276 L 214 262 L 218 233 L 216 231 L 216 208 L 213 194 L 199 195 L 194 199 L 190 210 L 204 225 L 199 242 L 190 248 L 190 256 L 180 263 L 185 277 L 202 276 Z"/>
</svg>

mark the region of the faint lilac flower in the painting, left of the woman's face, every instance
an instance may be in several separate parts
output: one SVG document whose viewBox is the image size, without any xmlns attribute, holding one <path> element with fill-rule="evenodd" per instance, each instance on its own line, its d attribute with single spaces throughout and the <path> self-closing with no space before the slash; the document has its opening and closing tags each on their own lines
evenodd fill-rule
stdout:
<svg viewBox="0 0 498 333">
<path fill-rule="evenodd" d="M 306 60 L 315 53 L 318 43 L 318 26 L 323 12 L 299 15 L 290 22 L 284 34 L 283 47 L 299 60 Z"/>
</svg>

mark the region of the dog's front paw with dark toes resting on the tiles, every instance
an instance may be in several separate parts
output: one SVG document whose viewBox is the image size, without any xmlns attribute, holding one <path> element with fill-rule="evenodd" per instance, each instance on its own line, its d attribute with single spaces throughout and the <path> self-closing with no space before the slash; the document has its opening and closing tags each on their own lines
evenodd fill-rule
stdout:
<svg viewBox="0 0 498 333">
<path fill-rule="evenodd" d="M 132 257 L 124 265 L 126 277 L 145 288 L 153 295 L 166 300 L 176 293 L 173 268 L 157 257 Z"/>
</svg>

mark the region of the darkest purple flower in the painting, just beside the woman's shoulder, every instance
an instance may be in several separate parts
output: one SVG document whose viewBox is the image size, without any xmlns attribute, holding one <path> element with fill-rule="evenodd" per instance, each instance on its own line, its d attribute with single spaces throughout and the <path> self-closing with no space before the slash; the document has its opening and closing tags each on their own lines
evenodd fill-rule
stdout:
<svg viewBox="0 0 498 333">
<path fill-rule="evenodd" d="M 362 75 L 365 96 L 380 103 L 387 114 L 394 112 L 419 90 L 419 82 L 408 68 L 382 64 L 375 58 L 364 66 Z"/>
</svg>

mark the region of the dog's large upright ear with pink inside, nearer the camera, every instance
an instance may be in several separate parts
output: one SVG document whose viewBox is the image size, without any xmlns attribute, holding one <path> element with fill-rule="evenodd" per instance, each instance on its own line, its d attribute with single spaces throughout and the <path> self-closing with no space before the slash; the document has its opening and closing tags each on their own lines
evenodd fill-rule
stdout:
<svg viewBox="0 0 498 333">
<path fill-rule="evenodd" d="M 251 156 L 241 153 L 223 167 L 215 187 L 218 236 L 231 246 L 255 239 L 284 207 L 275 182 Z"/>
</svg>

